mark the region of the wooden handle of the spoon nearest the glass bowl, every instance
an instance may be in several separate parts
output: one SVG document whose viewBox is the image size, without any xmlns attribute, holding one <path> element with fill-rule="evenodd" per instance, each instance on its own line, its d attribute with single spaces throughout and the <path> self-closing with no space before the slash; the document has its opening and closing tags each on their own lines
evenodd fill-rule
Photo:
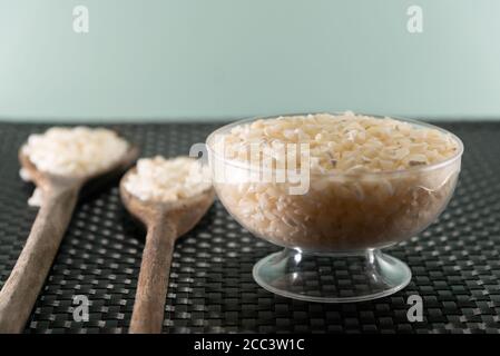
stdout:
<svg viewBox="0 0 500 356">
<path fill-rule="evenodd" d="M 131 334 L 161 333 L 175 238 L 176 229 L 167 221 L 148 228 L 129 328 Z"/>
</svg>

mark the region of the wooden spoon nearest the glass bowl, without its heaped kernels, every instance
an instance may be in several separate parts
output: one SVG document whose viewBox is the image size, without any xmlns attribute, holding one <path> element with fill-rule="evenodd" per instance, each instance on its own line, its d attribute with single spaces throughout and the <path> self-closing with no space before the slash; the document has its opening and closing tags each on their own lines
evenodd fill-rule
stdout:
<svg viewBox="0 0 500 356">
<path fill-rule="evenodd" d="M 147 234 L 129 333 L 159 334 L 175 241 L 205 215 L 215 192 L 210 187 L 171 202 L 144 201 L 125 188 L 125 181 L 135 171 L 133 168 L 121 178 L 120 195 L 128 211 L 146 226 Z"/>
</svg>

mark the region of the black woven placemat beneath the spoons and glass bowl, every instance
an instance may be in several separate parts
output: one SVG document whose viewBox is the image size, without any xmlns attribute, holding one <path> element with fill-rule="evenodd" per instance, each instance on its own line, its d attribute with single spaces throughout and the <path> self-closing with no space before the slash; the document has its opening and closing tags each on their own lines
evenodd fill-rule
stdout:
<svg viewBox="0 0 500 356">
<path fill-rule="evenodd" d="M 253 237 L 216 202 L 176 246 L 164 330 L 170 333 L 500 333 L 500 122 L 445 123 L 465 145 L 460 182 L 438 222 L 392 248 L 413 271 L 386 298 L 315 304 L 258 287 L 252 267 L 278 248 Z M 217 125 L 114 126 L 143 156 L 187 154 Z M 0 123 L 0 287 L 24 244 L 37 210 L 32 187 L 18 177 L 17 149 L 43 125 Z M 125 333 L 134 305 L 144 235 L 110 187 L 84 199 L 27 325 L 27 333 Z M 410 295 L 424 322 L 406 318 Z M 90 319 L 73 320 L 72 297 L 89 297 Z"/>
</svg>

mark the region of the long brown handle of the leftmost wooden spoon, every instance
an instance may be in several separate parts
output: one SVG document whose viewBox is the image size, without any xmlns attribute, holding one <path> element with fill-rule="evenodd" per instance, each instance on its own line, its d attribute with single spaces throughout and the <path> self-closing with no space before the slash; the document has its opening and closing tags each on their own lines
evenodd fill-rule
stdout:
<svg viewBox="0 0 500 356">
<path fill-rule="evenodd" d="M 0 291 L 0 333 L 21 333 L 56 257 L 79 187 L 48 189 L 16 266 Z"/>
</svg>

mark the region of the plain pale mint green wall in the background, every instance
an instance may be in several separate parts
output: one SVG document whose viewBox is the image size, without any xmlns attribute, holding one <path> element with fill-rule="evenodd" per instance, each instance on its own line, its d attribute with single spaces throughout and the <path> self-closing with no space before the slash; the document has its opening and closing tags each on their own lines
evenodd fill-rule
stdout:
<svg viewBox="0 0 500 356">
<path fill-rule="evenodd" d="M 500 1 L 0 0 L 3 120 L 344 109 L 500 118 Z"/>
</svg>

